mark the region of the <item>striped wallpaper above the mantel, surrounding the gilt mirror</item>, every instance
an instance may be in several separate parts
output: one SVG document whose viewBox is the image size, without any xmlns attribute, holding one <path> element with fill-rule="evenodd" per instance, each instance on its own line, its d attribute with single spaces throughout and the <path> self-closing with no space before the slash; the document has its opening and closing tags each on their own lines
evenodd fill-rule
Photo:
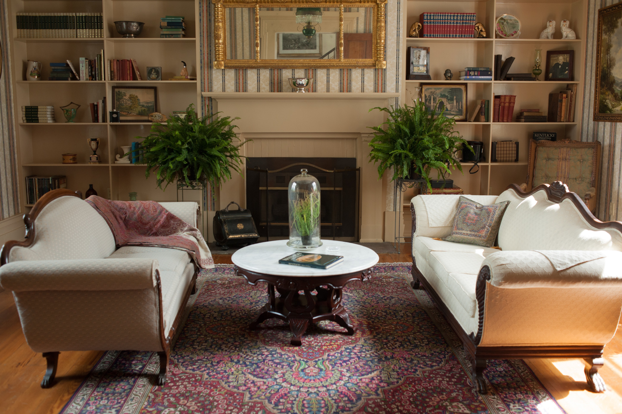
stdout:
<svg viewBox="0 0 622 414">
<path fill-rule="evenodd" d="M 386 6 L 386 69 L 213 69 L 213 6 L 200 3 L 201 73 L 203 91 L 222 92 L 290 92 L 287 78 L 312 76 L 313 92 L 399 92 L 401 90 L 400 37 L 402 35 L 402 2 L 391 0 Z M 243 25 L 233 14 L 227 22 Z M 369 24 L 368 19 L 361 22 Z M 228 30 L 231 30 L 229 27 Z M 364 29 L 363 29 L 364 30 Z M 252 31 L 252 30 L 251 30 Z M 243 53 L 240 45 L 228 46 L 228 53 Z M 397 104 L 395 98 L 392 104 Z M 211 99 L 203 99 L 203 112 L 211 111 Z"/>
</svg>

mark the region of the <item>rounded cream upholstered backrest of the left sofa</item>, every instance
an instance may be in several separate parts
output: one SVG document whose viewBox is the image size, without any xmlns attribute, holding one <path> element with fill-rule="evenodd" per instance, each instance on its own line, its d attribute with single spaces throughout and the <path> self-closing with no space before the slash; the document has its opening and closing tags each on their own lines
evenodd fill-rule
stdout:
<svg viewBox="0 0 622 414">
<path fill-rule="evenodd" d="M 86 201 L 64 196 L 42 209 L 35 219 L 34 242 L 30 247 L 13 247 L 9 262 L 104 259 L 115 248 L 106 220 Z"/>
</svg>

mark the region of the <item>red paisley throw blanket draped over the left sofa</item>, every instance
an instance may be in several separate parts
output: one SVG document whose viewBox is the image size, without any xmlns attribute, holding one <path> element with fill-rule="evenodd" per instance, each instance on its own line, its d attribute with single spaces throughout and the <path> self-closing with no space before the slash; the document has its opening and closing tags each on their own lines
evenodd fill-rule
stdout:
<svg viewBox="0 0 622 414">
<path fill-rule="evenodd" d="M 210 248 L 192 227 L 155 201 L 111 201 L 98 196 L 86 199 L 106 220 L 117 247 L 169 247 L 188 252 L 201 269 L 212 269 Z"/>
</svg>

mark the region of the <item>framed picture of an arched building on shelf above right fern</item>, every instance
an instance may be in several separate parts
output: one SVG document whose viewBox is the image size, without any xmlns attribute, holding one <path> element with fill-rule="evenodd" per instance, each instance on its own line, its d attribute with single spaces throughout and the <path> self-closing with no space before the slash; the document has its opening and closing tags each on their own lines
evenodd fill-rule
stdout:
<svg viewBox="0 0 622 414">
<path fill-rule="evenodd" d="M 425 108 L 436 108 L 435 115 L 445 109 L 443 113 L 456 122 L 465 122 L 466 111 L 466 83 L 422 83 L 421 94 Z"/>
</svg>

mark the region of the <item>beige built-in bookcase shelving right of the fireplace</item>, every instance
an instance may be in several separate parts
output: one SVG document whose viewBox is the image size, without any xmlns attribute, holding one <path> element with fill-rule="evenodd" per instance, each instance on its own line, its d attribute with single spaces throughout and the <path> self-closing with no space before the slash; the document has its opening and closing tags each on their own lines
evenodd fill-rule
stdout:
<svg viewBox="0 0 622 414">
<path fill-rule="evenodd" d="M 403 82 L 402 102 L 412 103 L 414 89 L 420 83 L 467 83 L 467 109 L 472 111 L 476 102 L 481 99 L 490 100 L 493 109 L 495 95 L 516 95 L 513 119 L 521 108 L 540 108 L 547 113 L 549 93 L 565 90 L 569 83 L 577 84 L 575 99 L 576 122 L 457 122 L 458 131 L 466 140 L 478 140 L 484 143 L 483 162 L 475 174 L 468 173 L 462 163 L 464 174 L 456 171 L 451 178 L 455 185 L 462 187 L 465 194 L 498 195 L 510 183 L 524 183 L 527 176 L 527 157 L 529 140 L 532 132 L 557 132 L 557 139 L 580 140 L 581 114 L 580 103 L 583 100 L 583 65 L 585 48 L 583 39 L 587 35 L 587 0 L 484 0 L 484 1 L 407 1 L 404 9 L 403 27 L 407 34 L 414 22 L 419 21 L 423 12 L 475 12 L 476 21 L 486 27 L 487 39 L 442 39 L 442 38 L 411 38 L 404 37 L 402 43 L 402 62 L 406 77 L 407 47 L 425 46 L 430 48 L 430 81 Z M 521 21 L 519 39 L 499 39 L 494 34 L 494 22 L 501 14 L 509 13 Z M 546 21 L 557 22 L 555 37 L 558 39 L 538 39 Z M 577 39 L 559 39 L 559 25 L 563 19 L 570 20 L 570 27 L 577 33 Z M 547 50 L 574 50 L 573 81 L 461 81 L 459 71 L 465 67 L 490 67 L 494 70 L 494 55 L 503 55 L 503 60 L 513 56 L 516 58 L 511 73 L 531 72 L 534 65 L 536 48 L 542 49 L 542 75 L 546 70 Z M 453 80 L 446 81 L 443 73 L 450 69 Z M 492 117 L 492 113 L 490 114 Z M 515 140 L 519 142 L 519 162 L 490 162 L 492 142 L 496 140 Z"/>
</svg>

